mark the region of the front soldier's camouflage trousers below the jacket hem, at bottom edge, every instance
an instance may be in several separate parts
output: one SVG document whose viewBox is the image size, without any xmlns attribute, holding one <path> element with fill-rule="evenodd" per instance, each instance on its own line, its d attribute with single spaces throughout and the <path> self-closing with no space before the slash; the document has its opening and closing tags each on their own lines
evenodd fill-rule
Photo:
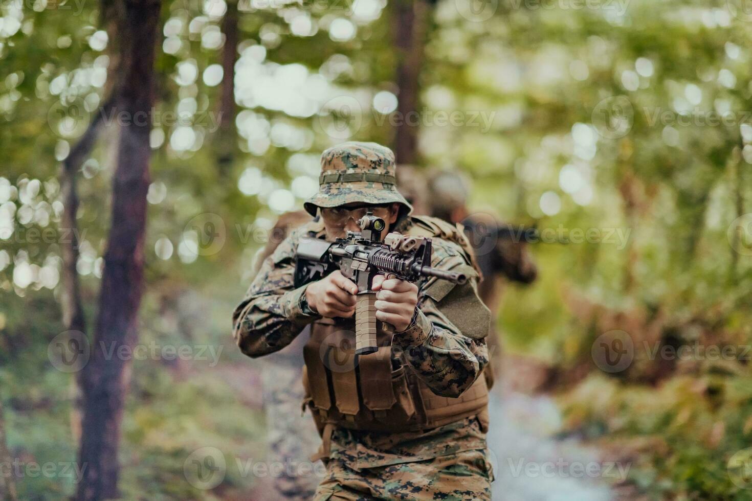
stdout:
<svg viewBox="0 0 752 501">
<path fill-rule="evenodd" d="M 314 499 L 490 500 L 491 480 L 493 472 L 482 450 L 360 471 L 341 460 L 330 460 Z"/>
</svg>

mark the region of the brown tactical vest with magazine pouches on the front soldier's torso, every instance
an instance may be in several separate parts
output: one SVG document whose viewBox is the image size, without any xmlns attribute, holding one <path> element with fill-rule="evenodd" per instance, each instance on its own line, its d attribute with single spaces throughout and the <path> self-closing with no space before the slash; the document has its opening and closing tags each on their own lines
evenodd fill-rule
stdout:
<svg viewBox="0 0 752 501">
<path fill-rule="evenodd" d="M 469 248 L 467 240 L 462 241 L 465 236 L 461 229 L 457 231 L 453 225 L 423 216 L 413 218 L 413 222 L 406 234 L 441 237 Z M 369 355 L 354 354 L 354 330 L 352 318 L 321 318 L 311 324 L 311 337 L 303 349 L 303 384 L 319 430 L 329 424 L 398 433 L 427 430 L 473 415 L 478 415 L 482 427 L 487 428 L 488 386 L 484 376 L 459 397 L 441 397 L 414 373 L 404 360 L 405 354 L 391 346 L 392 334 L 384 332 L 381 322 L 377 331 L 379 349 Z"/>
</svg>

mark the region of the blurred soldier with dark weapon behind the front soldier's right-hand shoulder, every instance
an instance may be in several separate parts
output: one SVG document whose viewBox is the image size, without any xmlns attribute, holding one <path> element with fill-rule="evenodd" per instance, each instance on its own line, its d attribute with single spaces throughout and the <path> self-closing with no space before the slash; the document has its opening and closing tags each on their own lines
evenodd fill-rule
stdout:
<svg viewBox="0 0 752 501">
<path fill-rule="evenodd" d="M 535 280 L 538 270 L 520 234 L 503 231 L 507 227 L 486 213 L 469 213 L 467 202 L 472 184 L 459 172 L 440 171 L 430 177 L 429 200 L 432 216 L 449 222 L 461 222 L 475 249 L 475 259 L 483 273 L 478 284 L 481 300 L 491 310 L 491 332 L 487 337 L 490 357 L 487 378 L 493 382 L 502 370 L 502 346 L 496 331 L 496 319 L 502 306 L 502 292 L 506 280 L 528 284 Z M 502 231 L 499 231 L 502 229 Z M 506 279 L 506 280 L 505 280 Z"/>
</svg>

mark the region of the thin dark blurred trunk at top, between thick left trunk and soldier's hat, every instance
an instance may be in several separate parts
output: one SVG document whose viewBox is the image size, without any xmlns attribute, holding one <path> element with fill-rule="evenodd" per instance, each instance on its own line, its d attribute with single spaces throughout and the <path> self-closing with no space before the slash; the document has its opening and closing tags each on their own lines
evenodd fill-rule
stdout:
<svg viewBox="0 0 752 501">
<path fill-rule="evenodd" d="M 238 61 L 238 2 L 227 2 L 227 11 L 222 20 L 225 44 L 222 50 L 223 80 L 218 117 L 219 144 L 217 166 L 220 174 L 229 175 L 235 159 L 238 139 L 235 134 L 235 62 Z"/>
</svg>

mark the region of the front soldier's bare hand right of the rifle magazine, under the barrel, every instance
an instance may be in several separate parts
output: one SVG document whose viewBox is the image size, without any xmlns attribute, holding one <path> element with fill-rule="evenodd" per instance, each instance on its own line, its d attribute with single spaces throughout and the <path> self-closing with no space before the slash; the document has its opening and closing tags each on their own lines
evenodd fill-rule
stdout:
<svg viewBox="0 0 752 501">
<path fill-rule="evenodd" d="M 418 303 L 418 286 L 377 275 L 371 289 L 376 291 L 376 318 L 392 324 L 397 332 L 408 328 Z"/>
</svg>

